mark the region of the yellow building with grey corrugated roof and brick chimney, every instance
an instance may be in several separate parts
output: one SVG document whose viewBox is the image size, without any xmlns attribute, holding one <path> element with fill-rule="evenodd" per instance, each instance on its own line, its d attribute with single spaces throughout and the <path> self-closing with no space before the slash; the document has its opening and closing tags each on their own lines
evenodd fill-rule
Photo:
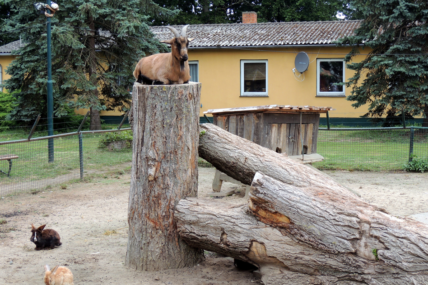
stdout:
<svg viewBox="0 0 428 285">
<path fill-rule="evenodd" d="M 367 106 L 354 109 L 346 100 L 351 88 L 337 85 L 354 75 L 344 60 L 351 47 L 336 47 L 333 42 L 352 35 L 360 23 L 190 25 L 187 36 L 195 38 L 188 50 L 190 80 L 202 83 L 200 116 L 208 109 L 278 104 L 332 106 L 336 111 L 329 112 L 330 118 L 359 118 Z M 160 40 L 173 36 L 163 26 L 151 29 Z M 307 62 L 297 60 L 297 65 L 306 63 L 302 73 L 295 65 L 300 52 L 307 55 Z M 361 53 L 356 60 L 365 58 L 367 50 Z"/>
</svg>

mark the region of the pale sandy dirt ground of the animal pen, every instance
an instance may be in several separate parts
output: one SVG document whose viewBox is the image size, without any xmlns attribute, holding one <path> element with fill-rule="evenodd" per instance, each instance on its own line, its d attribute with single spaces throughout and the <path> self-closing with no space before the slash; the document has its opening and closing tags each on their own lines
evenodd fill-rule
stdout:
<svg viewBox="0 0 428 285">
<path fill-rule="evenodd" d="M 199 168 L 199 197 L 212 191 L 213 168 Z M 426 173 L 327 171 L 354 189 L 369 203 L 394 215 L 428 212 Z M 128 242 L 127 209 L 130 176 L 111 175 L 66 189 L 50 188 L 38 194 L 0 198 L 0 285 L 42 285 L 44 264 L 62 264 L 74 274 L 74 284 L 143 285 L 250 285 L 260 284 L 250 271 L 239 270 L 233 260 L 214 253 L 195 267 L 141 272 L 125 267 Z M 224 182 L 222 191 L 235 189 L 235 197 L 222 201 L 242 203 L 245 188 Z M 213 198 L 207 198 L 213 199 Z M 219 200 L 220 201 L 220 200 Z M 62 246 L 33 250 L 31 223 L 47 224 L 61 235 Z"/>
</svg>

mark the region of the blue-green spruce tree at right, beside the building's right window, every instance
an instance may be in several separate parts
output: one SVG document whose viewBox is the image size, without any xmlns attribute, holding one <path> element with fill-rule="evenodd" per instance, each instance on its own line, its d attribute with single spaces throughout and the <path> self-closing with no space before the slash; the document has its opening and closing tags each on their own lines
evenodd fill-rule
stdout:
<svg viewBox="0 0 428 285">
<path fill-rule="evenodd" d="M 398 115 L 401 110 L 423 116 L 428 126 L 428 2 L 426 0 L 352 0 L 356 13 L 364 16 L 355 35 L 340 45 L 368 53 L 361 62 L 347 67 L 355 71 L 346 82 L 352 86 L 347 100 L 358 108 L 369 103 L 365 117 Z"/>
</svg>

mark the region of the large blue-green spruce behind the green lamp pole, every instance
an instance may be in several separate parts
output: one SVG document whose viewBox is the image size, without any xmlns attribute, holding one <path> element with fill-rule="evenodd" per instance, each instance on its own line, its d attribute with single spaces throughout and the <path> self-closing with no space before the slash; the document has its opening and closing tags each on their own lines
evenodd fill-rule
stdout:
<svg viewBox="0 0 428 285">
<path fill-rule="evenodd" d="M 4 82 L 18 93 L 13 119 L 46 114 L 46 16 L 29 0 L 6 0 L 17 13 L 3 31 L 21 33 L 25 47 L 9 66 Z M 30 7 L 30 8 L 29 8 Z M 67 115 L 65 106 L 89 108 L 91 130 L 100 129 L 100 110 L 129 107 L 135 63 L 146 54 L 167 51 L 153 38 L 149 19 L 173 17 L 152 0 L 65 0 L 52 19 L 52 79 L 54 116 Z M 42 116 L 43 117 L 43 116 Z"/>
</svg>

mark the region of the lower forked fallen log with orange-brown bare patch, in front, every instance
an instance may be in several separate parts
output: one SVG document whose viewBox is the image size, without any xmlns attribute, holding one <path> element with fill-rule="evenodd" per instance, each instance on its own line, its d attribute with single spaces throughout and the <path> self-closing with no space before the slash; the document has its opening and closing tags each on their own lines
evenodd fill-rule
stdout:
<svg viewBox="0 0 428 285">
<path fill-rule="evenodd" d="M 428 284 L 426 225 L 350 211 L 262 173 L 248 204 L 187 198 L 175 220 L 187 244 L 257 265 L 266 285 Z"/>
</svg>

